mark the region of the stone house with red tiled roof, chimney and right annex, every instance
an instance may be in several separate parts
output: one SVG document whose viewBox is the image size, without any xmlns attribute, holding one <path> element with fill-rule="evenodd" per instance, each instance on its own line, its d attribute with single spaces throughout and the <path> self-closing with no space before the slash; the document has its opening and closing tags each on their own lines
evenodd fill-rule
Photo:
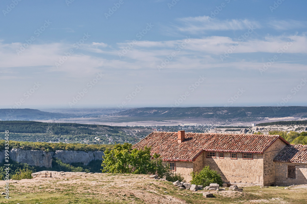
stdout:
<svg viewBox="0 0 307 204">
<path fill-rule="evenodd" d="M 145 146 L 186 181 L 209 165 L 227 185 L 307 184 L 307 145 L 290 145 L 279 135 L 152 132 L 134 148 Z"/>
</svg>

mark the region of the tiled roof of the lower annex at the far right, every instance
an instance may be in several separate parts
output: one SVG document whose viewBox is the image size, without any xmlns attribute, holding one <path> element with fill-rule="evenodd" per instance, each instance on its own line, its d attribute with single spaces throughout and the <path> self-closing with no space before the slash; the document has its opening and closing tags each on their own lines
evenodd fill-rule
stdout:
<svg viewBox="0 0 307 204">
<path fill-rule="evenodd" d="M 274 161 L 307 163 L 307 145 L 287 145 L 276 155 Z"/>
</svg>

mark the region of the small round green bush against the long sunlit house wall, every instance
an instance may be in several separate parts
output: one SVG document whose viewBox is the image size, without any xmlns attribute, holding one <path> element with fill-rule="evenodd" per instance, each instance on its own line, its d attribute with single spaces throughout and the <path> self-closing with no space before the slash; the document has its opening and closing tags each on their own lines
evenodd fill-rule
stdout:
<svg viewBox="0 0 307 204">
<path fill-rule="evenodd" d="M 192 176 L 191 184 L 201 185 L 201 186 L 209 186 L 211 183 L 223 185 L 223 180 L 221 175 L 217 173 L 217 171 L 211 170 L 209 165 L 205 166 L 203 170 L 198 172 L 191 172 Z"/>
</svg>

